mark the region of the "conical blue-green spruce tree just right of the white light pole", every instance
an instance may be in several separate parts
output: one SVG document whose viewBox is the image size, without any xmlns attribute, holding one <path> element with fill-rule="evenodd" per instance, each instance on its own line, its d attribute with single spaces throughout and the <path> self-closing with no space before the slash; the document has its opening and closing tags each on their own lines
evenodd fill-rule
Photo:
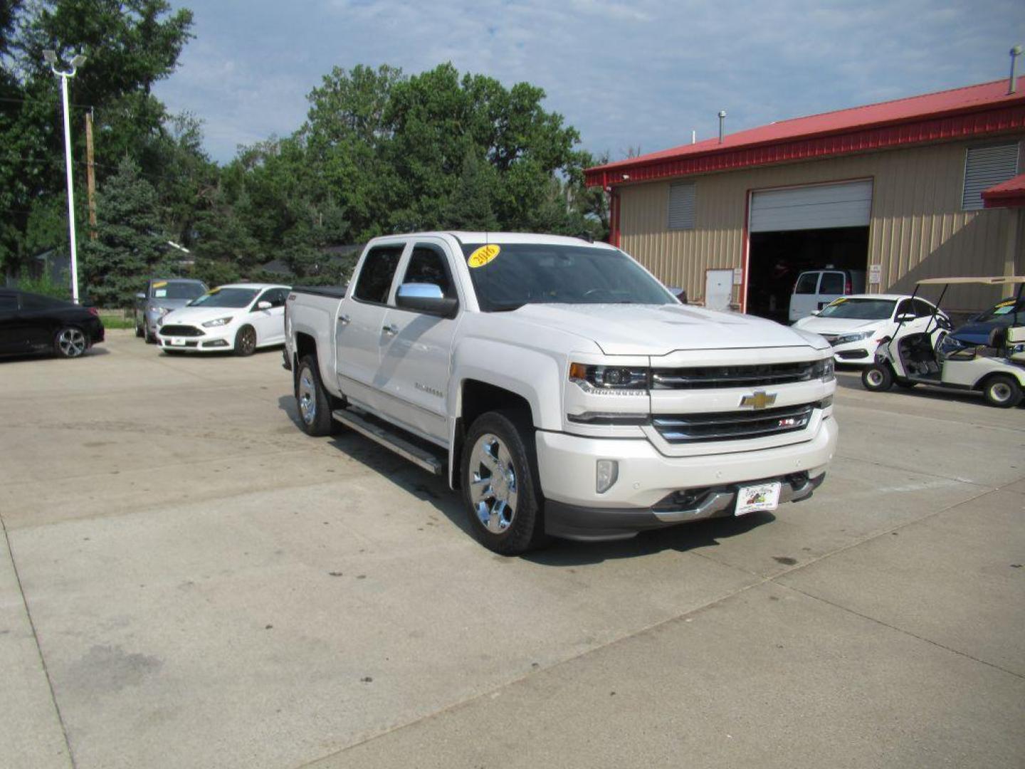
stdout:
<svg viewBox="0 0 1025 769">
<path fill-rule="evenodd" d="M 157 193 L 134 160 L 122 160 L 97 192 L 96 210 L 96 239 L 81 248 L 84 293 L 100 307 L 131 307 L 148 277 L 177 272 L 178 253 L 168 252 Z"/>
</svg>

